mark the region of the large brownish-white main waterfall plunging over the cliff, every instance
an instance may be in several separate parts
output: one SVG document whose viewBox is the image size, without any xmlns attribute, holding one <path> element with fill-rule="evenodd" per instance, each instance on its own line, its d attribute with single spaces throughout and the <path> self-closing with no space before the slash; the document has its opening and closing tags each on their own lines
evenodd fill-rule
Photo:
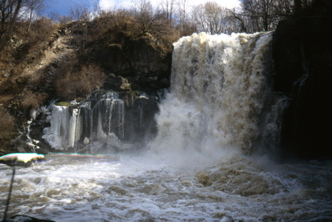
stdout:
<svg viewBox="0 0 332 222">
<path fill-rule="evenodd" d="M 271 100 L 269 85 L 269 33 L 181 38 L 174 43 L 171 90 L 160 104 L 151 149 L 251 154 L 256 144 L 267 144 L 262 139 L 271 139 L 262 134 L 267 127 L 269 132 L 280 127 L 279 114 L 264 114 L 281 110 L 273 107 L 280 97 Z"/>
</svg>

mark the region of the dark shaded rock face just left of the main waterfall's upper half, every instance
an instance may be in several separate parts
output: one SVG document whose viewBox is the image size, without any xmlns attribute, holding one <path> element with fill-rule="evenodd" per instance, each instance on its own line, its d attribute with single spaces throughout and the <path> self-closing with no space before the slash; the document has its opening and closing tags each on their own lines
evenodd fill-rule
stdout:
<svg viewBox="0 0 332 222">
<path fill-rule="evenodd" d="M 170 86 L 171 43 L 145 37 L 128 40 L 124 46 L 111 45 L 104 53 L 100 55 L 103 66 L 118 76 L 118 80 L 114 75 L 108 76 L 108 88 L 149 91 Z"/>
</svg>

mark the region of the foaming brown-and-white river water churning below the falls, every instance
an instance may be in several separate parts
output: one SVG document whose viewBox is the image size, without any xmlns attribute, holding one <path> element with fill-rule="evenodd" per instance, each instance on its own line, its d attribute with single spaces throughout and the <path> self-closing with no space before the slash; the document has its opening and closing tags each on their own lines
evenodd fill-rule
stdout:
<svg viewBox="0 0 332 222">
<path fill-rule="evenodd" d="M 187 167 L 156 154 L 50 154 L 16 169 L 9 216 L 54 221 L 328 221 L 332 163 L 233 154 Z M 0 166 L 1 211 L 11 168 Z"/>
</svg>

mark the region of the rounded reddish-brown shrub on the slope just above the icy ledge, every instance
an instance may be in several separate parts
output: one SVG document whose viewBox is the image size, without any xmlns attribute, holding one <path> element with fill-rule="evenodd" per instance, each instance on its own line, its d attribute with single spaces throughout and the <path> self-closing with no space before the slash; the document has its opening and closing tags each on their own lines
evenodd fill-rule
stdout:
<svg viewBox="0 0 332 222">
<path fill-rule="evenodd" d="M 93 90 L 103 86 L 106 75 L 96 65 L 82 65 L 78 70 L 68 70 L 56 80 L 59 96 L 74 99 L 85 97 Z"/>
</svg>

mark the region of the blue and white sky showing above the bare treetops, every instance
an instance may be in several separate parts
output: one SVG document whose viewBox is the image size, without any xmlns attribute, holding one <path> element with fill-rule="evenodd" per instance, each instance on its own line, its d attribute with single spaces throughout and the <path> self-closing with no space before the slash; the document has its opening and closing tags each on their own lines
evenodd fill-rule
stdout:
<svg viewBox="0 0 332 222">
<path fill-rule="evenodd" d="M 187 0 L 190 5 L 202 4 L 206 1 L 213 0 Z M 103 9 L 109 9 L 110 7 L 128 6 L 132 4 L 133 0 L 45 0 L 46 10 L 45 14 L 56 13 L 61 15 L 68 15 L 71 6 L 75 4 L 87 4 L 91 8 L 95 6 L 96 2 L 100 4 Z M 157 6 L 159 1 L 151 0 L 154 6 Z M 239 6 L 239 0 L 216 0 L 219 5 L 225 6 L 227 8 L 233 8 L 234 6 Z"/>
</svg>

